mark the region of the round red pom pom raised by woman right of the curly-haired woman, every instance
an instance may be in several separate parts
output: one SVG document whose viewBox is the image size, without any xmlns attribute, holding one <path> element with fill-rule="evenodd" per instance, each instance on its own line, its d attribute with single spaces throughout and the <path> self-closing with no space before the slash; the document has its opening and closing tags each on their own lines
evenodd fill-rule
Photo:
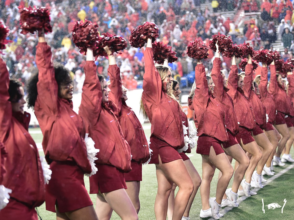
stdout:
<svg viewBox="0 0 294 220">
<path fill-rule="evenodd" d="M 87 48 L 94 49 L 96 40 L 98 39 L 98 24 L 92 23 L 85 19 L 77 21 L 72 30 L 74 44 L 80 49 L 83 54 L 87 53 Z"/>
</svg>

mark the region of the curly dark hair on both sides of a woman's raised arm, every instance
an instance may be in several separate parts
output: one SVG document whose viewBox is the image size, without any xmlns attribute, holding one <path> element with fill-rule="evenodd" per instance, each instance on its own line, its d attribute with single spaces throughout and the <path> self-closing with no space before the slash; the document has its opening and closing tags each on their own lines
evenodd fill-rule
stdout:
<svg viewBox="0 0 294 220">
<path fill-rule="evenodd" d="M 54 77 L 59 89 L 60 86 L 64 84 L 70 77 L 69 70 L 60 63 L 54 63 L 54 72 L 55 72 Z M 36 70 L 36 72 L 33 73 L 32 76 L 29 78 L 26 85 L 26 91 L 28 93 L 26 97 L 26 101 L 28 103 L 28 108 L 32 108 L 32 109 L 34 109 L 35 102 L 38 96 L 38 91 L 37 91 L 37 82 L 39 81 L 38 76 L 39 76 L 39 72 L 38 70 Z"/>
</svg>

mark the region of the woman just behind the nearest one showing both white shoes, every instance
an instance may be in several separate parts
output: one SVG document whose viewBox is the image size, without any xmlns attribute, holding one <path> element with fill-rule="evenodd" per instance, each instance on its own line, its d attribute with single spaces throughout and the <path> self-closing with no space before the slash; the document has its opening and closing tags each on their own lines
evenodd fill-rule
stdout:
<svg viewBox="0 0 294 220">
<path fill-rule="evenodd" d="M 222 146 L 224 151 L 229 155 L 230 162 L 232 162 L 232 158 L 238 162 L 238 167 L 236 168 L 234 174 L 232 188 L 226 190 L 225 194 L 228 199 L 224 195 L 222 206 L 224 207 L 231 204 L 233 207 L 238 207 L 238 187 L 244 177 L 246 169 L 249 166 L 249 158 L 235 137 L 239 131 L 238 121 L 233 106 L 233 100 L 227 94 L 228 89 L 226 86 L 228 80 L 226 79 L 225 74 L 220 72 L 220 64 L 220 52 L 218 50 L 218 45 L 216 44 L 216 55 L 213 60 L 213 68 L 211 70 L 211 77 L 214 84 L 216 85 L 213 89 L 213 96 L 225 111 L 225 126 L 229 136 L 229 140 L 222 143 Z M 219 176 L 221 176 L 221 172 Z"/>
</svg>

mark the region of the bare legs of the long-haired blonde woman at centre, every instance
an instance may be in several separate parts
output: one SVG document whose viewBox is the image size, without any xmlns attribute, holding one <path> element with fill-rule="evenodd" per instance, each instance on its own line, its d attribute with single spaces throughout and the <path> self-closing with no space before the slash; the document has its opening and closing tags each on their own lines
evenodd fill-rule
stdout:
<svg viewBox="0 0 294 220">
<path fill-rule="evenodd" d="M 156 164 L 158 189 L 154 204 L 156 219 L 166 219 L 168 197 L 171 194 L 173 183 L 178 185 L 179 191 L 175 198 L 172 219 L 181 219 L 194 189 L 191 176 L 182 159 L 169 163 L 161 163 L 159 155 L 158 159 L 159 164 Z"/>
</svg>

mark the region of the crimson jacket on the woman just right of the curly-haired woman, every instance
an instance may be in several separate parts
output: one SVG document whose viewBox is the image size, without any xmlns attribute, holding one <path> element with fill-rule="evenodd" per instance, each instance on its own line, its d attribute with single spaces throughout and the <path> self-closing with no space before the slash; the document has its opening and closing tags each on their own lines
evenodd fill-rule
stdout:
<svg viewBox="0 0 294 220">
<path fill-rule="evenodd" d="M 100 149 L 95 162 L 113 165 L 128 172 L 131 170 L 131 149 L 118 121 L 117 106 L 112 101 L 102 102 L 96 69 L 94 61 L 86 61 L 79 115 L 86 121 L 86 130 L 95 142 L 95 147 Z"/>
</svg>

